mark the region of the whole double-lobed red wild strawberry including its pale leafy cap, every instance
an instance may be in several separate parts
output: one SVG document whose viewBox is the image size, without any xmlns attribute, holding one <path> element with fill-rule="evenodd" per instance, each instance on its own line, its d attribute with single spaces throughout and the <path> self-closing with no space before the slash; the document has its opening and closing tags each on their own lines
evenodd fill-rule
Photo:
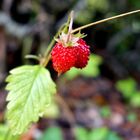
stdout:
<svg viewBox="0 0 140 140">
<path fill-rule="evenodd" d="M 87 65 L 90 54 L 89 46 L 80 37 L 64 34 L 52 49 L 51 56 L 53 68 L 60 74 L 71 67 L 83 68 Z"/>
</svg>

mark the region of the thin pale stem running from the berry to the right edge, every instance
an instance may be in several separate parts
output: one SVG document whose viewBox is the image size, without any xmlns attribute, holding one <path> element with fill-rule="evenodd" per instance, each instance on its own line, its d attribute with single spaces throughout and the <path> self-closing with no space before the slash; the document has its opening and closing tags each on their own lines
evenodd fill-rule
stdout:
<svg viewBox="0 0 140 140">
<path fill-rule="evenodd" d="M 113 19 L 117 19 L 117 18 L 120 18 L 120 17 L 128 16 L 128 15 L 135 14 L 135 13 L 138 13 L 138 12 L 140 12 L 140 10 L 127 12 L 127 13 L 120 14 L 120 15 L 113 16 L 113 17 L 109 17 L 109 18 L 106 18 L 106 19 L 103 19 L 103 20 L 92 22 L 92 23 L 89 23 L 87 25 L 84 25 L 84 26 L 81 26 L 81 27 L 78 27 L 78 28 L 72 30 L 72 33 L 75 33 L 75 32 L 77 32 L 79 30 L 82 30 L 82 29 L 85 29 L 85 28 L 88 28 L 88 27 L 91 27 L 91 26 L 94 26 L 94 25 L 97 25 L 97 24 L 100 24 L 100 23 L 103 23 L 103 22 L 107 22 L 109 20 L 113 20 Z"/>
</svg>

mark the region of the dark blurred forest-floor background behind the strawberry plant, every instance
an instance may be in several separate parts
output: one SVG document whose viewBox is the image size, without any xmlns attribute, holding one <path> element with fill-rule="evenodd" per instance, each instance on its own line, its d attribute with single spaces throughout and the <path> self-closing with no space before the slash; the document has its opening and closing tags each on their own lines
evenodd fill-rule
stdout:
<svg viewBox="0 0 140 140">
<path fill-rule="evenodd" d="M 25 55 L 43 55 L 58 28 L 75 11 L 73 28 L 140 8 L 139 0 L 1 0 L 0 140 L 4 79 L 8 71 L 37 64 Z M 56 101 L 31 129 L 11 140 L 140 140 L 140 14 L 82 30 L 91 57 L 83 70 L 56 78 Z"/>
</svg>

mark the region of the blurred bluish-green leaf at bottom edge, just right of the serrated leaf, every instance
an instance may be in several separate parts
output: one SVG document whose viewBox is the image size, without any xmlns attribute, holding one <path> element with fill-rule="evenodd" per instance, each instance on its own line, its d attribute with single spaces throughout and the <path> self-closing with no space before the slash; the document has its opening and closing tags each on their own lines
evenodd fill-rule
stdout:
<svg viewBox="0 0 140 140">
<path fill-rule="evenodd" d="M 63 140 L 62 131 L 59 127 L 50 127 L 38 140 Z"/>
</svg>

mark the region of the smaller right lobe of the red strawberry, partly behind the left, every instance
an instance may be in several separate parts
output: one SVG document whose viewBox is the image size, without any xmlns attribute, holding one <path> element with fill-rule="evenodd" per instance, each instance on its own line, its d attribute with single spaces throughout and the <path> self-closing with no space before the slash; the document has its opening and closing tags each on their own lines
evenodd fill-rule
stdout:
<svg viewBox="0 0 140 140">
<path fill-rule="evenodd" d="M 90 55 L 89 46 L 83 39 L 79 39 L 77 46 L 77 61 L 75 63 L 75 67 L 84 68 L 88 63 L 89 55 Z"/>
</svg>

